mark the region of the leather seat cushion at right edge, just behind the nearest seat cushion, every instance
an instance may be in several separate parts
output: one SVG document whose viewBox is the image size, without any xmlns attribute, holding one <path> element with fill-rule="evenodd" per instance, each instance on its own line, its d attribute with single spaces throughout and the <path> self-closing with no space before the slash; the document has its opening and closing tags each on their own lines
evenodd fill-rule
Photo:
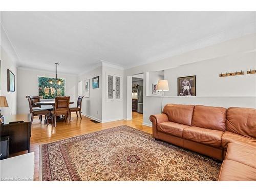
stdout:
<svg viewBox="0 0 256 192">
<path fill-rule="evenodd" d="M 227 146 L 226 159 L 256 168 L 256 146 L 229 143 Z"/>
</svg>

